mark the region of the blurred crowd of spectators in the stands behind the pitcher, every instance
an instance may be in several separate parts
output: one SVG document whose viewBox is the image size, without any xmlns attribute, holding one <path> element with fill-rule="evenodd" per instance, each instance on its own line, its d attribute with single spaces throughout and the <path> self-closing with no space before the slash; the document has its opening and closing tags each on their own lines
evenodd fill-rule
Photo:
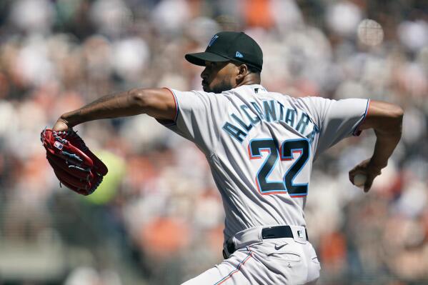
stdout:
<svg viewBox="0 0 428 285">
<path fill-rule="evenodd" d="M 201 89 L 221 30 L 264 51 L 262 84 L 292 96 L 386 100 L 403 136 L 369 194 L 349 169 L 374 134 L 314 164 L 309 238 L 319 284 L 428 284 L 428 5 L 424 0 L 0 1 L 0 284 L 180 284 L 222 261 L 222 201 L 204 155 L 148 116 L 77 126 L 109 174 L 59 186 L 39 134 L 135 87 Z"/>
</svg>

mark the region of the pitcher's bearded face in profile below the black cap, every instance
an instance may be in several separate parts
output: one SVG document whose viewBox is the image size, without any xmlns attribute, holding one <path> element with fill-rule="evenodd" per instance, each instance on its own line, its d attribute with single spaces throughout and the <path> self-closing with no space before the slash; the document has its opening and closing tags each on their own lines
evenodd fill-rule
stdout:
<svg viewBox="0 0 428 285">
<path fill-rule="evenodd" d="M 202 88 L 205 92 L 222 93 L 234 88 L 234 76 L 237 66 L 231 62 L 205 61 L 205 69 L 201 73 Z"/>
</svg>

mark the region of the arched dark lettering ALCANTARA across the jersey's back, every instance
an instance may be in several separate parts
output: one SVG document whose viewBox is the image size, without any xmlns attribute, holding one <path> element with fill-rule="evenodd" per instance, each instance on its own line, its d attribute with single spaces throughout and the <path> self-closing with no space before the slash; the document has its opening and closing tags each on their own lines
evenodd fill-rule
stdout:
<svg viewBox="0 0 428 285">
<path fill-rule="evenodd" d="M 308 114 L 302 111 L 302 109 L 286 109 L 284 104 L 277 100 L 264 100 L 262 101 L 262 107 L 254 101 L 251 101 L 250 104 L 257 111 L 257 115 L 254 115 L 249 106 L 243 104 L 239 108 L 242 110 L 244 116 L 232 113 L 230 116 L 234 122 L 227 121 L 223 125 L 223 130 L 241 143 L 254 126 L 260 124 L 261 121 L 267 123 L 284 122 L 299 134 L 306 136 L 310 143 L 312 143 L 315 134 L 319 132 L 317 125 L 312 122 Z"/>
</svg>

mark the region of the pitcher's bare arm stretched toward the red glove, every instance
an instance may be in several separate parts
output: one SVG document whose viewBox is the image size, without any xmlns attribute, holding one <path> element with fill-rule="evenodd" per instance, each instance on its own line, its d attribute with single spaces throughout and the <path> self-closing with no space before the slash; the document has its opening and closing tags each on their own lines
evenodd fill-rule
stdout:
<svg viewBox="0 0 428 285">
<path fill-rule="evenodd" d="M 86 106 L 62 114 L 52 128 L 66 131 L 86 121 L 148 114 L 159 120 L 174 121 L 176 101 L 169 89 L 131 89 L 102 96 Z"/>
</svg>

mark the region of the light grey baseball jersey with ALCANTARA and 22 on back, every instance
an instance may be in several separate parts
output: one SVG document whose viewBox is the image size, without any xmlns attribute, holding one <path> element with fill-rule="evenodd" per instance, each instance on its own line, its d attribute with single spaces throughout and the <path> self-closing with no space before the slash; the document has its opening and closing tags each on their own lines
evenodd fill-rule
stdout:
<svg viewBox="0 0 428 285">
<path fill-rule="evenodd" d="M 172 131 L 206 155 L 226 213 L 224 236 L 254 226 L 305 226 L 312 163 L 356 134 L 367 99 L 293 98 L 259 84 L 222 94 L 171 90 Z"/>
</svg>

